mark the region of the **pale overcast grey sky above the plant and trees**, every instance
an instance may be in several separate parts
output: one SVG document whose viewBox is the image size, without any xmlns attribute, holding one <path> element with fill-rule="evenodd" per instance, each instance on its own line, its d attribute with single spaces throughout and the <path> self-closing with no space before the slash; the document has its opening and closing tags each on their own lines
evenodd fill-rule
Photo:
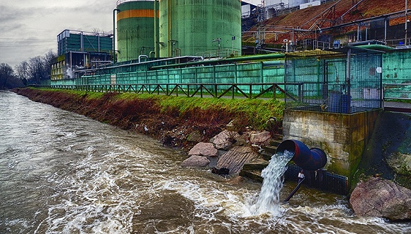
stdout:
<svg viewBox="0 0 411 234">
<path fill-rule="evenodd" d="M 0 64 L 13 69 L 30 57 L 57 52 L 64 29 L 113 30 L 117 0 L 1 0 Z M 261 0 L 246 0 L 259 4 Z"/>
</svg>

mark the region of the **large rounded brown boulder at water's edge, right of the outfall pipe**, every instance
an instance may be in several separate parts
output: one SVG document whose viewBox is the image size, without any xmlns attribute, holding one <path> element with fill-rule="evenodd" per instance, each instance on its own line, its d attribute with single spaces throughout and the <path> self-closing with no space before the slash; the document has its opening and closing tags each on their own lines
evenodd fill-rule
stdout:
<svg viewBox="0 0 411 234">
<path fill-rule="evenodd" d="M 388 179 L 371 178 L 360 182 L 349 203 L 357 216 L 376 216 L 391 221 L 411 219 L 411 190 Z"/>
</svg>

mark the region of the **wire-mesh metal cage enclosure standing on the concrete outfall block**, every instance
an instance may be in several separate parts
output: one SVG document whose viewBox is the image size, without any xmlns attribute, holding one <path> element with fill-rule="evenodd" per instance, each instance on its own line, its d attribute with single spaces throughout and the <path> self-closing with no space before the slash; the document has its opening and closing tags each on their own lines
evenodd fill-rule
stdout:
<svg viewBox="0 0 411 234">
<path fill-rule="evenodd" d="M 286 55 L 286 108 L 356 113 L 382 108 L 382 53 L 347 46 Z"/>
</svg>

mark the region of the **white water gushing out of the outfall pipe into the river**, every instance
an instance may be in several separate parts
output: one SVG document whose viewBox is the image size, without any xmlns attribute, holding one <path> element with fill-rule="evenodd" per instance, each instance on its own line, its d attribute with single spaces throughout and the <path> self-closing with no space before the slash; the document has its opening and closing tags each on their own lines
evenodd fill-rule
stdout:
<svg viewBox="0 0 411 234">
<path fill-rule="evenodd" d="M 286 165 L 293 157 L 293 152 L 277 152 L 271 157 L 269 165 L 261 172 L 263 184 L 256 204 L 252 206 L 252 213 L 259 215 L 271 213 L 273 216 L 280 214 L 279 195 L 283 187 L 283 174 L 286 172 Z"/>
</svg>

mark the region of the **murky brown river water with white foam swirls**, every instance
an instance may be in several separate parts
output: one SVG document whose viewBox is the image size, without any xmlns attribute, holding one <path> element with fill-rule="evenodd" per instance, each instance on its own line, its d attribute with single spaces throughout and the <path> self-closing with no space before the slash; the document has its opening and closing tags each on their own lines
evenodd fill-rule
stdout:
<svg viewBox="0 0 411 234">
<path fill-rule="evenodd" d="M 157 141 L 0 92 L 0 233 L 410 233 L 302 187 L 276 216 L 261 184 L 179 165 Z M 295 184 L 286 184 L 286 197 Z"/>
</svg>

